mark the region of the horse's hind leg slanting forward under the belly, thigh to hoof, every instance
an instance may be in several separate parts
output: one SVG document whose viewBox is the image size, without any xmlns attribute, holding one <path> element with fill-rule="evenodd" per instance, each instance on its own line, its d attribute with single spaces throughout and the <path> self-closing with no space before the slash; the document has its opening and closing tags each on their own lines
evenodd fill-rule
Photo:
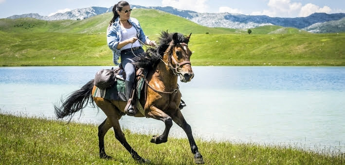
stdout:
<svg viewBox="0 0 345 165">
<path fill-rule="evenodd" d="M 125 134 L 122 132 L 119 119 L 121 118 L 120 111 L 107 99 L 94 98 L 95 103 L 107 115 L 107 120 L 110 121 L 111 126 L 114 128 L 115 138 L 127 149 L 132 155 L 132 158 L 139 163 L 145 163 L 147 160 L 143 159 L 138 153 L 127 143 Z M 107 123 L 107 122 L 106 122 Z"/>
</svg>

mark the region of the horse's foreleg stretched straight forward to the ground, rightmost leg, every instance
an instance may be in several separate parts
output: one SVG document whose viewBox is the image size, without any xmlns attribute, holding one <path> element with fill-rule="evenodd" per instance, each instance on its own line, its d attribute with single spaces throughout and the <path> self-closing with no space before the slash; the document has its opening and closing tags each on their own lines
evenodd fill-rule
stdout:
<svg viewBox="0 0 345 165">
<path fill-rule="evenodd" d="M 192 150 L 192 153 L 194 154 L 194 162 L 196 164 L 204 164 L 202 155 L 200 154 L 198 150 L 198 146 L 194 141 L 192 129 L 190 125 L 186 122 L 186 120 L 184 119 L 181 111 L 178 110 L 172 117 L 173 117 L 174 122 L 178 124 L 183 129 L 183 131 L 186 132 L 187 134 L 190 148 Z"/>
</svg>

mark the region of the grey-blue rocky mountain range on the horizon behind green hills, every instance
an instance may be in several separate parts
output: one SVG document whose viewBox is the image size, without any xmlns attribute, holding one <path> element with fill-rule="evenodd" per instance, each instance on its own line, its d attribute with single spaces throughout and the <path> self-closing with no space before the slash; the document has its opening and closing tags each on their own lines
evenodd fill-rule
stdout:
<svg viewBox="0 0 345 165">
<path fill-rule="evenodd" d="M 326 14 L 326 13 L 314 13 L 307 17 L 295 17 L 295 18 L 282 18 L 282 17 L 270 17 L 270 16 L 248 16 L 242 14 L 230 14 L 230 13 L 197 13 L 190 10 L 179 10 L 170 6 L 167 7 L 145 7 L 139 5 L 131 5 L 133 9 L 144 8 L 144 9 L 155 9 L 164 11 L 176 16 L 189 19 L 197 24 L 207 27 L 222 27 L 222 28 L 233 28 L 233 29 L 250 29 L 265 25 L 277 25 L 282 27 L 292 27 L 297 29 L 307 28 L 311 25 L 317 26 L 317 23 L 324 23 L 327 21 L 340 20 L 345 17 L 345 13 L 337 14 Z M 25 14 L 15 15 L 7 18 L 16 19 L 21 17 L 33 17 L 36 19 L 43 20 L 60 20 L 60 19 L 86 19 L 91 16 L 100 15 L 103 13 L 111 12 L 112 7 L 89 7 L 82 9 L 75 9 L 66 13 L 57 13 L 53 16 L 40 16 L 38 14 Z M 340 22 L 341 25 L 345 26 L 344 22 Z M 326 24 L 328 25 L 328 24 Z M 323 28 L 325 29 L 325 28 Z M 334 30 L 328 29 L 327 31 L 319 30 L 318 33 L 328 33 L 328 31 L 338 31 L 341 28 Z M 310 30 L 310 32 L 315 32 Z"/>
</svg>

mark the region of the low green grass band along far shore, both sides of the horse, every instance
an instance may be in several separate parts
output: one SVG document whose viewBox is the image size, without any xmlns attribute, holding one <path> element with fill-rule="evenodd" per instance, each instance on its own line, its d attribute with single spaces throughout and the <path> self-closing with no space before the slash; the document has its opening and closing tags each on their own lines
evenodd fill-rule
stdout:
<svg viewBox="0 0 345 165">
<path fill-rule="evenodd" d="M 105 34 L 0 32 L 0 66 L 111 66 Z M 154 38 L 154 37 L 152 37 Z M 345 66 L 345 33 L 192 34 L 193 66 Z"/>
</svg>

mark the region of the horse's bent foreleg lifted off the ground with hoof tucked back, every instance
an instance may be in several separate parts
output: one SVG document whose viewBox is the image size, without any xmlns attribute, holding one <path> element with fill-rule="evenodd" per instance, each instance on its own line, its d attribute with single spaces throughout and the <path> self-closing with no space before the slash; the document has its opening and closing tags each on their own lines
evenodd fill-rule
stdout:
<svg viewBox="0 0 345 165">
<path fill-rule="evenodd" d="M 161 144 L 161 143 L 167 142 L 169 131 L 172 126 L 171 117 L 169 115 L 166 115 L 162 110 L 156 108 L 155 106 L 151 107 L 151 111 L 147 113 L 147 116 L 157 119 L 157 120 L 162 120 L 165 124 L 165 129 L 164 129 L 163 134 L 159 136 L 153 136 L 151 139 L 151 143 Z"/>
</svg>

